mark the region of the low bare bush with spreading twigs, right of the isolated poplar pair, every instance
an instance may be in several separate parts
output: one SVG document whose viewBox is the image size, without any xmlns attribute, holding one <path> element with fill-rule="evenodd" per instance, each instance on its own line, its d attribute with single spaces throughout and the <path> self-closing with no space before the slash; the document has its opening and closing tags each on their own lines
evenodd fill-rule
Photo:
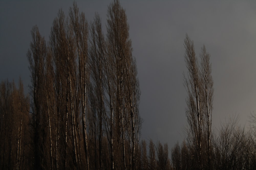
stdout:
<svg viewBox="0 0 256 170">
<path fill-rule="evenodd" d="M 215 169 L 255 168 L 253 140 L 250 132 L 241 128 L 238 122 L 238 116 L 234 116 L 221 124 L 219 137 L 214 141 Z"/>
</svg>

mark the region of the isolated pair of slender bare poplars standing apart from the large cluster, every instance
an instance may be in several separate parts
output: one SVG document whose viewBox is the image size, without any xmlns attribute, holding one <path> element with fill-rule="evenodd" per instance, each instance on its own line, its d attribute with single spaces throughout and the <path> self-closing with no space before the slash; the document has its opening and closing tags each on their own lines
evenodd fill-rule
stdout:
<svg viewBox="0 0 256 170">
<path fill-rule="evenodd" d="M 188 69 L 188 78 L 184 74 L 184 86 L 188 98 L 186 99 L 186 116 L 189 124 L 189 142 L 195 147 L 198 167 L 203 168 L 202 142 L 206 142 L 207 136 L 208 167 L 210 167 L 210 137 L 211 137 L 211 114 L 213 101 L 213 80 L 211 77 L 210 55 L 206 52 L 205 46 L 200 53 L 200 65 L 195 54 L 194 42 L 186 34 L 184 40 L 185 63 Z M 206 130 L 205 130 L 206 129 Z"/>
</svg>

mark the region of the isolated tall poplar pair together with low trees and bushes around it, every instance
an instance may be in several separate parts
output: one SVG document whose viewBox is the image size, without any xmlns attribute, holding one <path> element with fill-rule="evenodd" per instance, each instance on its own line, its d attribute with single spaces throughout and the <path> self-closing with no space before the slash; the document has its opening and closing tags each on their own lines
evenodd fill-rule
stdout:
<svg viewBox="0 0 256 170">
<path fill-rule="evenodd" d="M 185 63 L 188 74 L 184 74 L 187 90 L 186 128 L 187 140 L 180 147 L 177 143 L 171 151 L 174 169 L 255 169 L 256 140 L 255 118 L 252 127 L 245 130 L 238 126 L 238 117 L 222 123 L 218 134 L 211 130 L 213 110 L 213 79 L 210 54 L 201 48 L 199 61 L 194 42 L 186 34 L 184 40 Z"/>
</svg>

